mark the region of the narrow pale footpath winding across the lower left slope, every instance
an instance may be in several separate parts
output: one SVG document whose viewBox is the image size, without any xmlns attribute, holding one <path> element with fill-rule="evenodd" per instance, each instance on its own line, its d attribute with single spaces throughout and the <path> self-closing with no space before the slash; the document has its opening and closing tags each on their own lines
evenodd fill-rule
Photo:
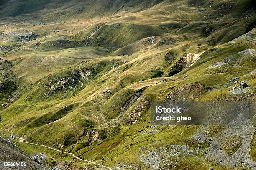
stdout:
<svg viewBox="0 0 256 170">
<path fill-rule="evenodd" d="M 3 129 L 3 130 L 7 130 L 7 131 L 11 132 L 11 134 L 12 134 L 15 138 L 20 139 L 20 141 L 19 141 L 19 142 L 27 143 L 27 144 L 32 144 L 32 145 L 37 145 L 37 146 L 42 146 L 42 147 L 47 147 L 47 148 L 49 148 L 49 149 L 51 149 L 51 150 L 56 150 L 56 151 L 58 151 L 58 152 L 62 152 L 62 153 L 65 153 L 65 154 L 72 155 L 74 158 L 76 158 L 76 159 L 78 159 L 78 160 L 82 160 L 82 161 L 89 162 L 89 163 L 94 164 L 94 165 L 98 165 L 98 166 L 101 166 L 101 167 L 105 167 L 105 168 L 107 168 L 108 170 L 113 170 L 113 169 L 111 169 L 110 167 L 107 167 L 107 166 L 104 166 L 104 165 L 101 165 L 101 164 L 98 164 L 98 163 L 92 162 L 92 161 L 90 161 L 90 160 L 84 160 L 84 159 L 81 159 L 80 157 L 77 157 L 77 156 L 76 156 L 76 155 L 74 155 L 73 153 L 64 152 L 64 151 L 57 150 L 57 149 L 55 149 L 55 148 L 48 147 L 48 146 L 45 146 L 45 145 L 39 145 L 39 144 L 36 144 L 36 143 L 24 142 L 24 140 L 25 140 L 25 139 L 23 139 L 23 138 L 21 138 L 21 137 L 17 137 L 17 136 L 15 136 L 15 135 L 13 134 L 13 132 L 12 132 L 12 131 L 10 131 L 10 130 L 8 130 L 8 129 Z"/>
</svg>

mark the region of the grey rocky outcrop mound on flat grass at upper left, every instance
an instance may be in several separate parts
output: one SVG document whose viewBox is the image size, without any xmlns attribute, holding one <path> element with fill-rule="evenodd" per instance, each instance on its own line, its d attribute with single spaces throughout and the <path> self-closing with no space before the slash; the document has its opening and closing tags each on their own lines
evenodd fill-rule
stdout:
<svg viewBox="0 0 256 170">
<path fill-rule="evenodd" d="M 25 41 L 35 40 L 37 35 L 33 33 L 31 30 L 23 29 L 23 30 L 10 31 L 7 34 L 7 37 L 10 39 L 13 39 L 14 41 L 25 42 Z"/>
</svg>

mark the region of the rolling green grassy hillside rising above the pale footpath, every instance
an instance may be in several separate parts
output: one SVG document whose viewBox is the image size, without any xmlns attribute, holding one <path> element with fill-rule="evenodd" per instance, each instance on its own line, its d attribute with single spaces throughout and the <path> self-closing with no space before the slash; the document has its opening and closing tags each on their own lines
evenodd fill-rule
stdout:
<svg viewBox="0 0 256 170">
<path fill-rule="evenodd" d="M 253 102 L 255 14 L 252 0 L 5 0 L 0 127 L 112 169 L 253 169 L 254 119 L 155 126 L 150 107 Z M 18 147 L 45 152 L 46 167 L 92 168 Z"/>
</svg>

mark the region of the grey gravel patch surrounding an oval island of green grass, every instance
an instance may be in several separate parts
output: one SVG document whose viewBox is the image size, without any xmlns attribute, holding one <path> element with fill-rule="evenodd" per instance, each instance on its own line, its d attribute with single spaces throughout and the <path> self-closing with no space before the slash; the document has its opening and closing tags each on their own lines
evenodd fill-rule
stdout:
<svg viewBox="0 0 256 170">
<path fill-rule="evenodd" d="M 210 160 L 216 162 L 222 161 L 220 163 L 223 165 L 238 165 L 242 161 L 244 162 L 243 165 L 246 165 L 246 167 L 251 169 L 256 168 L 256 162 L 254 162 L 249 155 L 252 140 L 251 134 L 254 132 L 255 127 L 250 124 L 250 120 L 248 119 L 243 118 L 243 124 L 248 124 L 243 126 L 235 125 L 236 121 L 241 121 L 241 119 L 238 118 L 238 120 L 234 120 L 233 125 L 225 126 L 217 137 L 211 137 L 212 132 L 208 131 L 208 127 L 202 127 L 198 129 L 198 133 L 194 134 L 191 138 L 198 139 L 198 143 L 205 140 L 209 141 L 209 139 L 212 140 L 210 147 L 205 150 L 206 156 L 209 157 Z M 206 132 L 208 132 L 208 134 Z M 226 152 L 220 150 L 221 143 L 226 137 L 232 137 L 234 135 L 241 136 L 241 146 L 233 155 L 228 156 Z"/>
</svg>

